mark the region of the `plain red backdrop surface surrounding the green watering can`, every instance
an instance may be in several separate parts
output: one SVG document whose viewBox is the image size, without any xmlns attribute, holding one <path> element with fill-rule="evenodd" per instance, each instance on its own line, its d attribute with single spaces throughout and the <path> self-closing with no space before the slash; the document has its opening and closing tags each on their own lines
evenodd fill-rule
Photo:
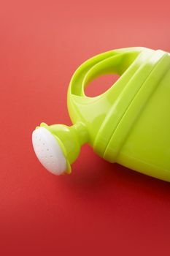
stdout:
<svg viewBox="0 0 170 256">
<path fill-rule="evenodd" d="M 41 121 L 71 124 L 66 91 L 83 61 L 130 46 L 170 51 L 169 1 L 0 5 L 0 255 L 169 255 L 168 183 L 88 146 L 72 175 L 53 176 L 31 146 Z"/>
</svg>

